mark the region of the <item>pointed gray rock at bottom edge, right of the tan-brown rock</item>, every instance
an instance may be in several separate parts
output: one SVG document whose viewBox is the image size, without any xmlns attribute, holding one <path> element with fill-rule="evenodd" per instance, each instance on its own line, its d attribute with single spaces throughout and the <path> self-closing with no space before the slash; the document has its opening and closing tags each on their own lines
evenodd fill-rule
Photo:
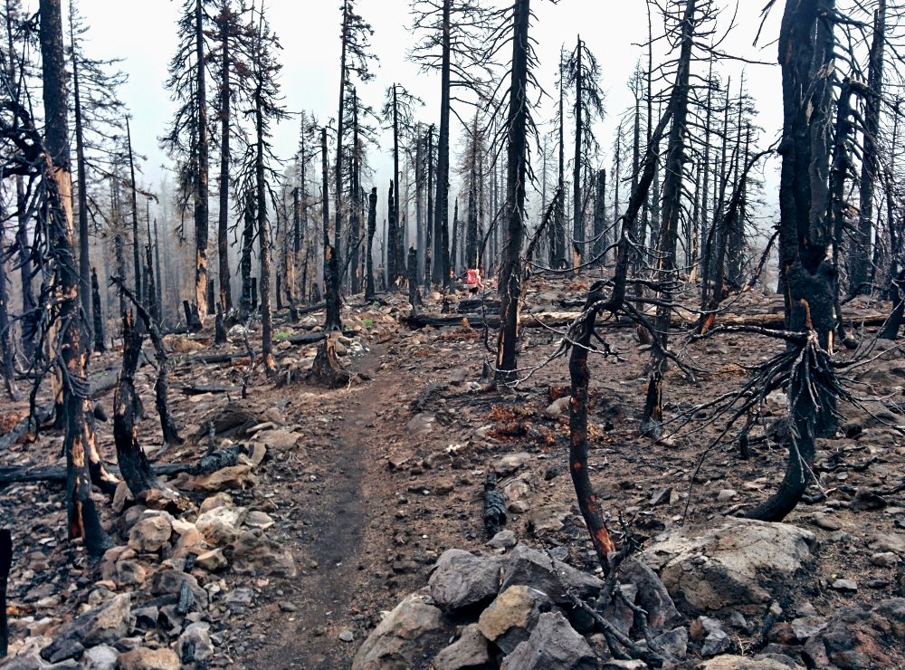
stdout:
<svg viewBox="0 0 905 670">
<path fill-rule="evenodd" d="M 525 642 L 503 659 L 500 670 L 596 670 L 597 657 L 559 612 L 540 615 Z"/>
</svg>

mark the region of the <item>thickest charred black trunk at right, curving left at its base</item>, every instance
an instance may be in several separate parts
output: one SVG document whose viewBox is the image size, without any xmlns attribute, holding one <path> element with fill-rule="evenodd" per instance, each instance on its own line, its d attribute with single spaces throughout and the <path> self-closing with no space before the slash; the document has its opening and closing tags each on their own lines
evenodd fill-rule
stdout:
<svg viewBox="0 0 905 670">
<path fill-rule="evenodd" d="M 824 103 L 825 59 L 832 58 L 832 28 L 817 29 L 821 0 L 788 2 L 779 34 L 783 77 L 782 172 L 779 182 L 779 270 L 786 302 L 786 330 L 805 331 L 789 386 L 795 430 L 789 439 L 786 476 L 779 490 L 748 516 L 779 521 L 795 508 L 811 481 L 814 437 L 835 426 L 834 371 L 826 349 L 834 329 L 835 268 L 826 258 L 824 174 L 828 147 L 814 132 L 814 111 Z M 821 22 L 822 23 L 822 22 Z M 815 40 L 815 35 L 817 38 Z M 821 41 L 822 40 L 822 41 Z M 829 55 L 824 55 L 829 54 Z M 823 63 L 814 67 L 814 63 Z M 815 81 L 815 79 L 821 81 Z M 817 111 L 825 115 L 826 109 Z M 814 215 L 802 216 L 803 212 Z"/>
</svg>

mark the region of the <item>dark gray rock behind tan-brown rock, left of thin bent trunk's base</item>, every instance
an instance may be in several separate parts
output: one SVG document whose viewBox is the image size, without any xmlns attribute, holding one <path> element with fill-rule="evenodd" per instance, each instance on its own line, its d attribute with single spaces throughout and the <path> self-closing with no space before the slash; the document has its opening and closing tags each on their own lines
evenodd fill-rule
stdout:
<svg viewBox="0 0 905 670">
<path fill-rule="evenodd" d="M 579 598 L 596 596 L 604 586 L 604 582 L 593 575 L 576 570 L 561 560 L 551 561 L 546 554 L 519 544 L 503 563 L 500 590 L 522 584 L 546 593 L 557 605 L 571 605 L 563 583 L 575 589 Z"/>
</svg>

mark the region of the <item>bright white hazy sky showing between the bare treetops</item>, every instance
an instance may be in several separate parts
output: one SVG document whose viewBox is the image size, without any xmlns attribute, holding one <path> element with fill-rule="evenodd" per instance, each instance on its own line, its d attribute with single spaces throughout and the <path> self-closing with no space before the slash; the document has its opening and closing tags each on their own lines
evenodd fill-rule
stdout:
<svg viewBox="0 0 905 670">
<path fill-rule="evenodd" d="M 729 5 L 720 28 L 724 30 L 734 13 L 735 4 L 725 0 L 717 2 Z M 764 4 L 740 0 L 738 26 L 724 43 L 725 51 L 749 59 L 776 62 L 774 40 L 781 7 L 776 7 L 774 15 L 767 21 L 761 39 L 767 46 L 757 49 L 751 46 Z M 157 138 L 164 133 L 173 110 L 173 103 L 163 84 L 167 78 L 167 64 L 176 48 L 176 18 L 181 5 L 181 0 L 80 0 L 79 5 L 81 14 L 90 25 L 87 52 L 97 57 L 125 59 L 122 68 L 129 73 L 129 83 L 122 91 L 122 98 L 134 117 L 133 144 L 137 151 L 148 156 L 145 178 L 153 184 L 159 183 L 163 174 L 160 166 L 170 164 L 158 148 Z M 645 4 L 642 0 L 560 0 L 553 5 L 549 0 L 533 0 L 531 5 L 537 14 L 537 20 L 531 26 L 531 35 L 538 42 L 538 79 L 549 92 L 554 91 L 560 46 L 565 43 L 571 49 L 576 33 L 580 32 L 601 63 L 608 112 L 600 138 L 603 148 L 609 153 L 614 124 L 631 105 L 626 81 L 637 59 L 643 56 L 643 48 L 638 44 L 647 39 Z M 283 47 L 279 57 L 283 63 L 281 85 L 287 109 L 313 110 L 322 121 L 335 116 L 338 103 L 339 0 L 267 0 L 265 7 Z M 415 41 L 415 35 L 409 29 L 412 21 L 409 7 L 409 0 L 359 0 L 357 3 L 358 13 L 375 29 L 373 51 L 379 59 L 375 81 L 359 87 L 359 95 L 367 104 L 379 109 L 386 87 L 398 81 L 424 99 L 426 105 L 421 118 L 428 123 L 436 122 L 439 79 L 433 74 L 419 72 L 413 63 L 406 60 L 406 50 Z M 658 16 L 653 19 L 653 32 L 654 35 L 662 34 L 662 19 Z M 703 67 L 700 66 L 701 71 Z M 726 68 L 738 76 L 737 64 L 728 64 Z M 767 129 L 765 139 L 770 141 L 781 123 L 778 68 L 748 65 L 746 78 L 761 111 L 758 118 L 760 125 Z M 548 116 L 547 110 L 538 114 L 538 119 Z M 457 123 L 454 117 L 452 123 Z M 280 158 L 289 158 L 295 150 L 298 127 L 298 119 L 292 119 L 276 129 L 274 146 Z M 375 186 L 382 194 L 392 168 L 389 168 L 386 158 L 391 144 L 382 140 L 381 145 L 379 150 L 384 157 L 373 157 L 372 164 L 378 168 Z M 606 158 L 604 167 L 608 168 L 609 163 L 610 159 Z M 767 171 L 772 170 L 768 168 Z"/>
</svg>

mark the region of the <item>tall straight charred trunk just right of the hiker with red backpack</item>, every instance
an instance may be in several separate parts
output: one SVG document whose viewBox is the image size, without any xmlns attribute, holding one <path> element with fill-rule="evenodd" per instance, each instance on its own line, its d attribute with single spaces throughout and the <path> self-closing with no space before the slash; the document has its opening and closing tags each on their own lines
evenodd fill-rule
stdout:
<svg viewBox="0 0 905 670">
<path fill-rule="evenodd" d="M 530 0 L 517 0 L 512 34 L 512 81 L 507 119 L 506 241 L 500 267 L 500 335 L 497 340 L 497 380 L 516 378 L 521 300 L 521 246 L 525 237 L 525 187 L 528 158 L 528 50 Z"/>
</svg>

